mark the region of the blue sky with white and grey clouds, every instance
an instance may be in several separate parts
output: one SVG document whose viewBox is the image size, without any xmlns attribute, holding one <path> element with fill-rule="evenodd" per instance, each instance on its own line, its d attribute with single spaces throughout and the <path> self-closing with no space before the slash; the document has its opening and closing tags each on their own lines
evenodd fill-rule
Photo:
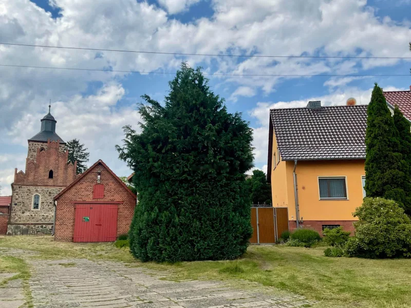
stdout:
<svg viewBox="0 0 411 308">
<path fill-rule="evenodd" d="M 387 0 L 5 0 L 0 42 L 160 52 L 411 57 L 411 1 Z M 332 78 L 321 74 L 409 74 L 408 60 L 271 59 L 172 56 L 0 45 L 0 64 L 175 72 L 181 61 L 211 74 L 214 92 L 254 129 L 255 167 L 266 170 L 268 110 L 309 100 L 341 105 L 369 101 L 384 90 L 409 89 L 410 76 Z M 65 140 L 89 148 L 89 165 L 103 159 L 117 175 L 121 127 L 137 128 L 136 104 L 148 94 L 161 102 L 173 74 L 126 74 L 0 68 L 0 185 L 10 193 L 14 168 L 25 168 L 27 139 L 47 112 Z M 303 78 L 213 76 L 310 74 Z"/>
</svg>

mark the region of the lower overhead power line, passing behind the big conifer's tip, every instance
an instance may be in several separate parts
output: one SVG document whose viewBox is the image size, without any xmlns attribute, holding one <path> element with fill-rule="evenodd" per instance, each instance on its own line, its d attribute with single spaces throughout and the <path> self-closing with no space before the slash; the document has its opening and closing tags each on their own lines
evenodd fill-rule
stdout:
<svg viewBox="0 0 411 308">
<path fill-rule="evenodd" d="M 133 71 L 133 70 L 108 70 L 108 69 L 98 69 L 98 68 L 74 68 L 74 67 L 51 67 L 51 66 L 31 66 L 31 65 L 11 65 L 11 64 L 0 64 L 4 67 L 23 67 L 23 68 L 44 68 L 44 69 L 59 69 L 59 70 L 79 70 L 79 71 L 98 71 L 98 72 L 119 72 L 119 73 L 139 73 L 139 74 L 172 74 L 175 75 L 176 72 L 154 72 L 154 71 Z M 409 76 L 409 74 L 230 74 L 230 73 L 215 73 L 207 74 L 203 73 L 205 76 L 260 76 L 260 77 L 377 77 L 377 76 Z"/>
</svg>

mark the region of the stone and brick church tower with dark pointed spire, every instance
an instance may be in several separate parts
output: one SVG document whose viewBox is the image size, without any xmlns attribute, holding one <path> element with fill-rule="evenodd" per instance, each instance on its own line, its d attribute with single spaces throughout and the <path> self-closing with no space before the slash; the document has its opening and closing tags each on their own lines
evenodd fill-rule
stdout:
<svg viewBox="0 0 411 308">
<path fill-rule="evenodd" d="M 67 164 L 66 143 L 55 133 L 50 106 L 41 123 L 28 140 L 26 171 L 14 172 L 8 235 L 51 233 L 53 198 L 76 179 L 77 162 Z"/>
</svg>

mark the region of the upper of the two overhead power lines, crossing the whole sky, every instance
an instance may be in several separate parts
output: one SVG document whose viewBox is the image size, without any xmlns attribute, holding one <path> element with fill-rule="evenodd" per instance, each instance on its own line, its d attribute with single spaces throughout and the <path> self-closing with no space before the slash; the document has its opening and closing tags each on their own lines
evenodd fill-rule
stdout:
<svg viewBox="0 0 411 308">
<path fill-rule="evenodd" d="M 0 45 L 10 46 L 27 46 L 27 47 L 43 47 L 43 48 L 60 48 L 60 49 L 77 49 L 77 50 L 93 50 L 93 51 L 116 51 L 116 52 L 133 52 L 133 53 L 153 53 L 153 54 L 171 54 L 171 55 L 193 55 L 193 56 L 223 56 L 223 57 L 261 57 L 261 58 L 307 58 L 307 59 L 411 59 L 407 56 L 338 56 L 338 55 L 258 55 L 258 54 L 212 54 L 212 53 L 182 53 L 182 52 L 160 52 L 160 51 L 143 51 L 143 50 L 121 50 L 121 49 L 103 49 L 103 48 L 83 48 L 83 47 L 64 47 L 64 46 L 48 46 L 48 45 L 32 45 L 32 44 L 13 44 L 1 43 Z"/>
</svg>

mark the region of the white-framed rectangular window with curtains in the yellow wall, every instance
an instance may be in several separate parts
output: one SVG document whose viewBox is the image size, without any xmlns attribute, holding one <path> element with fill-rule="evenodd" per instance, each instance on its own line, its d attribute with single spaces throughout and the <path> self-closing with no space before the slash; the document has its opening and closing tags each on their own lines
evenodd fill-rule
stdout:
<svg viewBox="0 0 411 308">
<path fill-rule="evenodd" d="M 318 177 L 320 200 L 347 200 L 346 177 Z"/>
</svg>

